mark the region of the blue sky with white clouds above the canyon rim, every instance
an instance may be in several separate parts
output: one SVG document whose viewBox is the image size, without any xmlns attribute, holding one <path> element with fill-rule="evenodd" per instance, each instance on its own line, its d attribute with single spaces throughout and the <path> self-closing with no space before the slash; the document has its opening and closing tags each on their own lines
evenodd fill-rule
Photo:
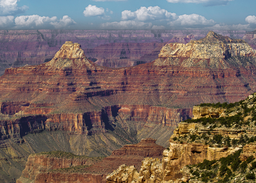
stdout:
<svg viewBox="0 0 256 183">
<path fill-rule="evenodd" d="M 0 29 L 256 29 L 256 0 L 0 0 Z"/>
</svg>

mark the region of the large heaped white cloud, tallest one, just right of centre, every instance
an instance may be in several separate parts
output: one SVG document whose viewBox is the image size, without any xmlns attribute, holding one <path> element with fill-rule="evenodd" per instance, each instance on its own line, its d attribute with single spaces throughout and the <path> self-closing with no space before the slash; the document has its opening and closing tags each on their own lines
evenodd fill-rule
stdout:
<svg viewBox="0 0 256 183">
<path fill-rule="evenodd" d="M 142 6 L 135 12 L 131 12 L 130 10 L 125 10 L 122 12 L 122 20 L 147 21 L 166 19 L 175 20 L 177 19 L 177 15 L 175 13 L 170 13 L 165 9 L 161 9 L 159 6 L 149 6 L 148 8 Z"/>
</svg>

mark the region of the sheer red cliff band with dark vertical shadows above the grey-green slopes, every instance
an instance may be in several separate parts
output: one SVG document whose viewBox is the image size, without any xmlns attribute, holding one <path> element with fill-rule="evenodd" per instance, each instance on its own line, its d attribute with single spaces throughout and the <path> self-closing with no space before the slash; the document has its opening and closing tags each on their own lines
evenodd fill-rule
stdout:
<svg viewBox="0 0 256 183">
<path fill-rule="evenodd" d="M 35 133 L 43 130 L 59 130 L 65 131 L 67 134 L 90 135 L 101 132 L 104 133 L 108 131 L 105 127 L 105 125 L 109 124 L 108 120 L 115 117 L 117 114 L 119 114 L 120 118 L 122 118 L 123 115 L 129 116 L 128 120 L 132 121 L 134 125 L 140 123 L 141 127 L 151 128 L 154 128 L 154 125 L 159 124 L 176 127 L 180 121 L 192 117 L 191 109 L 167 109 L 166 107 L 150 105 L 114 105 L 104 107 L 99 111 L 49 114 L 45 113 L 46 109 L 49 108 L 39 107 L 43 105 L 33 105 L 33 107 L 28 107 L 25 106 L 28 105 L 26 103 L 15 104 L 16 109 L 12 106 L 12 103 L 2 104 L 2 113 L 7 113 L 10 109 L 14 108 L 17 111 L 24 111 L 23 113 L 20 112 L 20 114 L 30 114 L 30 116 L 0 120 L 0 138 L 2 140 L 21 138 L 27 133 Z M 23 107 L 26 108 L 24 109 Z M 53 110 L 52 108 L 50 109 Z M 42 113 L 42 111 L 44 111 L 44 113 Z M 38 113 L 42 114 L 38 115 Z"/>
</svg>

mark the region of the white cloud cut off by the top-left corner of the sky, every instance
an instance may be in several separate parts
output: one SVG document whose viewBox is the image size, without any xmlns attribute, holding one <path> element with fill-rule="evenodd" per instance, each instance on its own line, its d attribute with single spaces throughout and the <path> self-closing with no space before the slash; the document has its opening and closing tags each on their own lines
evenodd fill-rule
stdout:
<svg viewBox="0 0 256 183">
<path fill-rule="evenodd" d="M 29 9 L 28 6 L 18 6 L 19 0 L 0 0 L 0 15 L 17 15 Z"/>
</svg>

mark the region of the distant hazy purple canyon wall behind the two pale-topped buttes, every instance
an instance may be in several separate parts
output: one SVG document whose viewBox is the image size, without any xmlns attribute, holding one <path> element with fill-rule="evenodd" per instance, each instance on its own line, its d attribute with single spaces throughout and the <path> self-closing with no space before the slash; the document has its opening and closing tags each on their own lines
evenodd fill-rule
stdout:
<svg viewBox="0 0 256 183">
<path fill-rule="evenodd" d="M 245 31 L 218 31 L 243 38 Z M 50 61 L 66 41 L 81 44 L 91 61 L 107 67 L 129 67 L 157 59 L 169 42 L 201 39 L 207 30 L 0 30 L 0 75 L 9 67 Z"/>
</svg>

